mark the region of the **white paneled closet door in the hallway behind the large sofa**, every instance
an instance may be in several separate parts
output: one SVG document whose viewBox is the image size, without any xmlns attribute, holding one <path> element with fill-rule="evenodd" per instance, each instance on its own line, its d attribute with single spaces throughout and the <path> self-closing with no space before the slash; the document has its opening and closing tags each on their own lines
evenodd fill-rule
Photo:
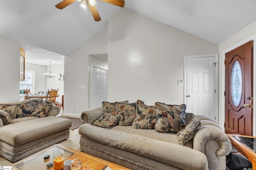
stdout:
<svg viewBox="0 0 256 170">
<path fill-rule="evenodd" d="M 92 66 L 91 108 L 102 106 L 107 100 L 107 71 Z"/>
</svg>

